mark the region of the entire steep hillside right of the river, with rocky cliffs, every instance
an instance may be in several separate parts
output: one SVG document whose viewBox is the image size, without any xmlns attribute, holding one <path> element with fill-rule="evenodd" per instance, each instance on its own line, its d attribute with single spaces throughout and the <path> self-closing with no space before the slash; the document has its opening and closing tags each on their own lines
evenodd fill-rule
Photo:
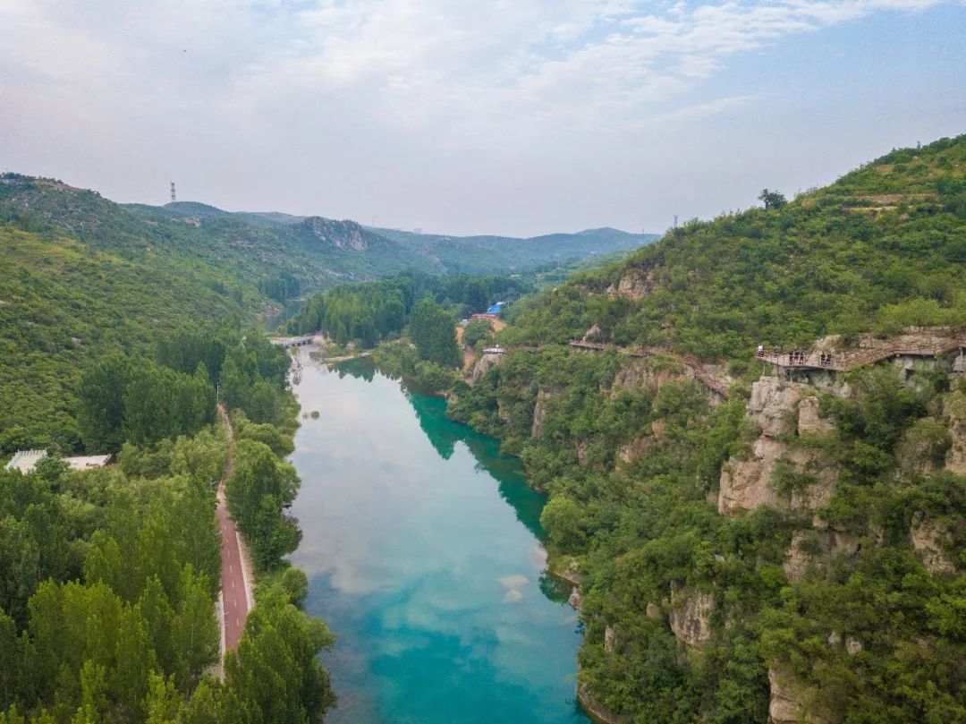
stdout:
<svg viewBox="0 0 966 724">
<path fill-rule="evenodd" d="M 966 721 L 961 370 L 786 378 L 754 359 L 830 333 L 847 350 L 962 332 L 966 136 L 770 206 L 516 304 L 497 336 L 511 351 L 450 412 L 550 496 L 552 564 L 582 593 L 582 701 L 600 715 Z M 566 346 L 584 335 L 614 346 Z"/>
</svg>

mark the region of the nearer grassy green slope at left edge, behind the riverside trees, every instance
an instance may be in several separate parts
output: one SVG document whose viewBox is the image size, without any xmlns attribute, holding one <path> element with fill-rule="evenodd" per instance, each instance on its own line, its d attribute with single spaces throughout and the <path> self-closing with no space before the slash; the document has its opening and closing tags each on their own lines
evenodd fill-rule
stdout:
<svg viewBox="0 0 966 724">
<path fill-rule="evenodd" d="M 129 261 L 59 233 L 0 224 L 0 259 L 3 452 L 77 448 L 76 384 L 85 363 L 147 350 L 194 320 L 242 311 L 231 295 L 163 264 Z"/>
</svg>

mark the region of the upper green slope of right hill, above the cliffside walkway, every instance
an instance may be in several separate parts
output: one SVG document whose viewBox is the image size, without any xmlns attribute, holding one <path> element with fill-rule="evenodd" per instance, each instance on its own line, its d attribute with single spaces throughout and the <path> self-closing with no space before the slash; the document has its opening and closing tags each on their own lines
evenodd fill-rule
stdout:
<svg viewBox="0 0 966 724">
<path fill-rule="evenodd" d="M 596 324 L 602 340 L 738 361 L 758 343 L 966 318 L 963 263 L 960 136 L 895 151 L 781 208 L 688 222 L 518 306 L 507 340 L 563 342 Z"/>
</svg>

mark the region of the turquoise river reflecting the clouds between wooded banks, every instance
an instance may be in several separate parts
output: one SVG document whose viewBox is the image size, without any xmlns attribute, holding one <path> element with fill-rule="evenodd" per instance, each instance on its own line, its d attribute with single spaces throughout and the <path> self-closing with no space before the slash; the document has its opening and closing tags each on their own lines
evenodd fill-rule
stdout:
<svg viewBox="0 0 966 724">
<path fill-rule="evenodd" d="M 579 623 L 517 461 L 371 362 L 297 365 L 292 561 L 338 636 L 327 721 L 587 722 Z"/>
</svg>

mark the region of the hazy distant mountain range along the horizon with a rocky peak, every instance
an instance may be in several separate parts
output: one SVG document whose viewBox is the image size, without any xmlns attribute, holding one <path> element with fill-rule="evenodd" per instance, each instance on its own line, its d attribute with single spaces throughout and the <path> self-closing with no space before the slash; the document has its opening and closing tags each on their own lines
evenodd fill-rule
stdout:
<svg viewBox="0 0 966 724">
<path fill-rule="evenodd" d="M 0 218 L 50 227 L 132 261 L 257 290 L 278 302 L 341 281 L 407 268 L 435 274 L 507 274 L 604 255 L 657 235 L 588 229 L 529 239 L 414 234 L 352 220 L 227 212 L 197 202 L 116 204 L 92 190 L 17 174 L 0 177 Z M 257 296 L 257 295 L 255 295 Z"/>
</svg>

